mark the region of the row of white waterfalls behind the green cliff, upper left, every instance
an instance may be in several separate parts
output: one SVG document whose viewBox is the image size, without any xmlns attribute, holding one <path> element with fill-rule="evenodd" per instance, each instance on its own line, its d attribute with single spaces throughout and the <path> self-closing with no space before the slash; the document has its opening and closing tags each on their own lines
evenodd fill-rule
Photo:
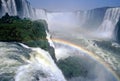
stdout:
<svg viewBox="0 0 120 81">
<path fill-rule="evenodd" d="M 46 10 L 35 9 L 26 0 L 1 0 L 0 17 L 8 13 L 10 16 L 19 16 L 20 18 L 30 18 L 32 20 L 47 20 Z"/>
</svg>

